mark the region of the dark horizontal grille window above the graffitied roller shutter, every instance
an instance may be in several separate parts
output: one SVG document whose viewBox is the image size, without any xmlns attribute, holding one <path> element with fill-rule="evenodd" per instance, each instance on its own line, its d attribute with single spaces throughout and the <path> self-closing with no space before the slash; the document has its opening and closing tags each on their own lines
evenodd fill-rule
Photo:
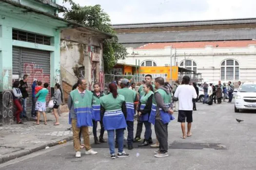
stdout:
<svg viewBox="0 0 256 170">
<path fill-rule="evenodd" d="M 28 33 L 13 29 L 13 40 L 31 42 L 36 44 L 51 45 L 51 37 L 39 34 Z"/>
</svg>

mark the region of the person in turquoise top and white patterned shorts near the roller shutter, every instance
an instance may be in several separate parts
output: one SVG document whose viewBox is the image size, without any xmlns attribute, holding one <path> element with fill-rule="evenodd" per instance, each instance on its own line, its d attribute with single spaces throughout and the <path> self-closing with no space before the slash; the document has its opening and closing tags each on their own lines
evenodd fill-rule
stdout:
<svg viewBox="0 0 256 170">
<path fill-rule="evenodd" d="M 49 86 L 48 83 L 44 83 L 43 84 L 43 89 L 41 89 L 37 94 L 36 94 L 36 98 L 38 98 L 37 102 L 36 102 L 36 110 L 38 110 L 38 119 L 37 122 L 35 124 L 39 125 L 39 120 L 40 120 L 40 112 L 43 115 L 43 119 L 44 119 L 44 124 L 47 124 L 47 120 L 46 120 L 46 114 L 45 114 L 45 110 L 46 110 L 46 96 L 49 93 L 49 90 L 47 89 Z"/>
</svg>

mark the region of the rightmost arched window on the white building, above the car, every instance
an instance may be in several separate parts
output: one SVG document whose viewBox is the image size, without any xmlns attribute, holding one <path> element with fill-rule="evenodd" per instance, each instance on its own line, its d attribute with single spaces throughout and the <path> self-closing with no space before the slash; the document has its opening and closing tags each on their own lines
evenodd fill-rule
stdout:
<svg viewBox="0 0 256 170">
<path fill-rule="evenodd" d="M 239 64 L 236 60 L 228 59 L 221 63 L 221 80 L 238 80 Z"/>
</svg>

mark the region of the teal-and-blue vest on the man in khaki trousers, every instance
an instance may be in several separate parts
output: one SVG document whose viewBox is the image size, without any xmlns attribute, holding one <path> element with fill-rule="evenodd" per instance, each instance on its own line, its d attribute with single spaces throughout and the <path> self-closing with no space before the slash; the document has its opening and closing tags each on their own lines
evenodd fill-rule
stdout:
<svg viewBox="0 0 256 170">
<path fill-rule="evenodd" d="M 77 127 L 93 126 L 92 122 L 92 99 L 93 93 L 85 90 L 85 95 L 82 98 L 78 89 L 70 92 L 70 96 L 74 103 L 74 111 L 77 115 Z"/>
</svg>

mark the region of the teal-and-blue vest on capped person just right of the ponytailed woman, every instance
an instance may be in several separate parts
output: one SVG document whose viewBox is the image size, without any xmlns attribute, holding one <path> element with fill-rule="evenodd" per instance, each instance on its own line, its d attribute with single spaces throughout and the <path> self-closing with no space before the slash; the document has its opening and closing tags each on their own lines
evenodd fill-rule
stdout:
<svg viewBox="0 0 256 170">
<path fill-rule="evenodd" d="M 134 120 L 134 101 L 136 97 L 136 91 L 129 89 L 127 87 L 124 87 L 122 89 L 118 90 L 118 94 L 124 96 L 124 100 L 126 103 L 126 110 L 127 110 L 127 121 L 133 121 Z"/>
</svg>

